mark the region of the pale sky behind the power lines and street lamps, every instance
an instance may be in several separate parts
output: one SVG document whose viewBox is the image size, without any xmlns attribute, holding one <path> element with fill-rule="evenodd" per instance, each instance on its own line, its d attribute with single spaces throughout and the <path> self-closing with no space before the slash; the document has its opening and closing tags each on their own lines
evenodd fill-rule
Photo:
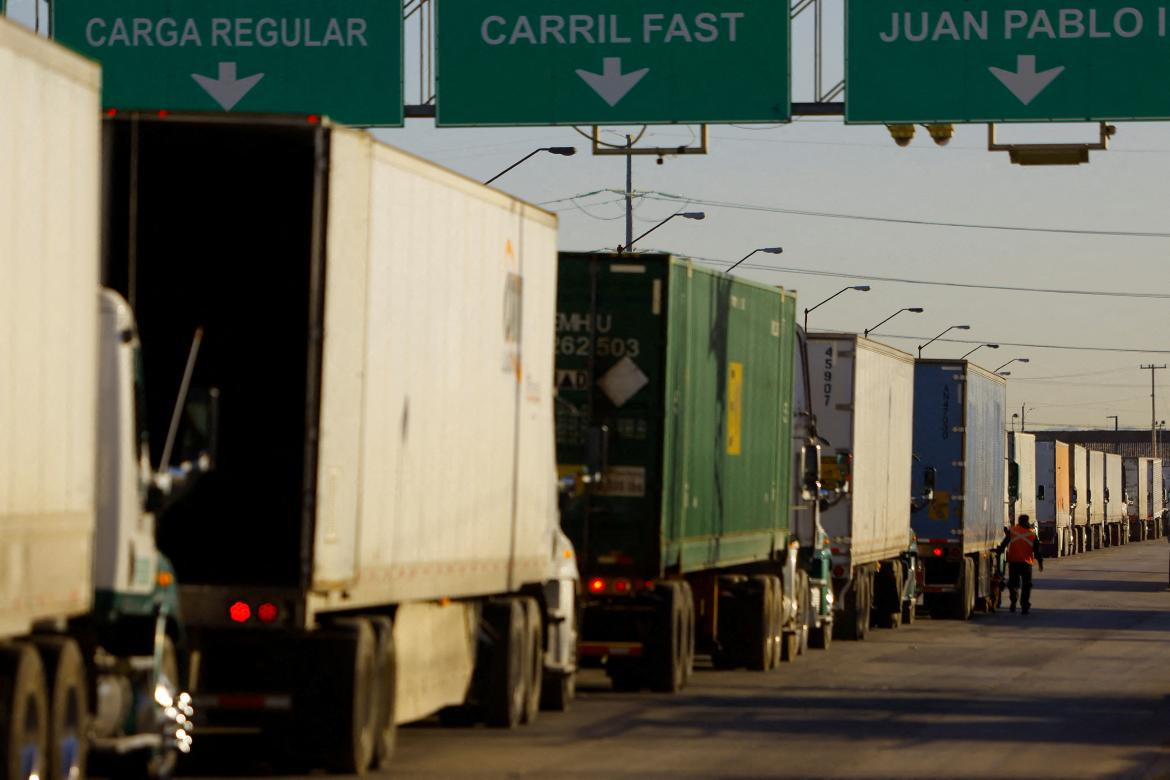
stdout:
<svg viewBox="0 0 1170 780">
<path fill-rule="evenodd" d="M 9 13 L 32 18 L 30 0 L 9 0 Z M 811 15 L 807 12 L 806 15 Z M 840 78 L 840 2 L 826 4 L 834 29 L 824 55 L 825 82 Z M 407 102 L 417 102 L 417 32 L 407 27 Z M 793 99 L 810 101 L 811 19 L 793 23 Z M 633 96 L 634 94 L 632 94 Z M 507 99 L 507 94 L 501 98 Z M 640 242 L 642 250 L 734 262 L 758 247 L 782 246 L 783 255 L 757 254 L 753 265 L 885 276 L 930 282 L 1031 287 L 1066 290 L 1159 294 L 1166 298 L 1102 297 L 930 287 L 863 278 L 835 278 L 793 271 L 742 269 L 744 276 L 798 291 L 811 306 L 848 284 L 870 284 L 818 309 L 810 329 L 862 331 L 902 306 L 879 332 L 879 340 L 915 352 L 915 346 L 952 324 L 948 338 L 924 357 L 959 357 L 979 341 L 1072 345 L 1154 352 L 1072 351 L 1042 347 L 980 348 L 972 359 L 994 368 L 1016 357 L 1031 363 L 1007 370 L 1009 417 L 1026 405 L 1028 428 L 1148 428 L 1150 372 L 1140 364 L 1170 363 L 1170 237 L 1085 235 L 973 229 L 745 210 L 654 199 L 654 193 L 696 201 L 739 203 L 867 218 L 1092 232 L 1165 233 L 1170 202 L 1170 125 L 1116 123 L 1106 152 L 1089 165 L 1020 167 L 1006 153 L 986 151 L 986 125 L 957 126 L 937 147 L 925 130 L 906 149 L 883 126 L 845 125 L 840 118 L 798 119 L 787 125 L 710 125 L 710 153 L 634 158 L 635 235 L 675 210 L 704 210 L 704 221 L 675 219 Z M 587 130 L 587 129 L 585 129 Z M 620 140 L 639 127 L 607 129 Z M 1095 125 L 1007 126 L 1000 140 L 1093 139 Z M 625 159 L 594 157 L 590 141 L 571 127 L 436 129 L 431 120 L 407 120 L 405 129 L 380 130 L 390 144 L 469 177 L 487 179 L 532 149 L 574 145 L 576 157 L 538 154 L 495 186 L 560 218 L 560 248 L 612 248 L 625 240 Z M 651 127 L 641 145 L 677 146 L 697 137 L 697 126 Z M 599 192 L 599 191 L 618 191 Z M 587 194 L 596 193 L 596 194 Z M 576 200 L 569 200 L 576 198 Z M 736 271 L 737 274 L 739 270 Z M 894 338 L 914 336 L 916 339 Z M 1158 353 L 1156 351 L 1162 351 Z M 1170 387 L 1170 371 L 1158 372 Z M 1170 392 L 1159 388 L 1158 417 L 1170 419 Z"/>
</svg>

